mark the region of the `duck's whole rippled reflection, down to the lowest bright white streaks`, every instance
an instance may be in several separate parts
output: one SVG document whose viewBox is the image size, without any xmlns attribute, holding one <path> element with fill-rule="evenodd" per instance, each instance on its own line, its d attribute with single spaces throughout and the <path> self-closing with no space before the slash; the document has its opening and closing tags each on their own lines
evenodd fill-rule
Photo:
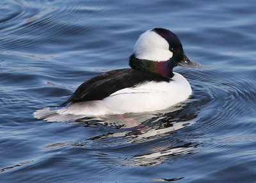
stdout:
<svg viewBox="0 0 256 183">
<path fill-rule="evenodd" d="M 105 129 L 109 127 L 109 130 L 73 145 L 93 148 L 103 164 L 113 163 L 118 166 L 161 164 L 170 157 L 193 154 L 198 147 L 197 143 L 189 141 L 186 136 L 179 136 L 180 129 L 196 122 L 197 112 L 189 113 L 189 111 L 189 104 L 186 104 L 173 107 L 168 113 L 111 115 L 104 116 L 99 121 L 79 120 L 76 123 L 84 123 L 84 127 L 101 124 Z M 122 157 L 122 154 L 126 155 Z"/>
</svg>

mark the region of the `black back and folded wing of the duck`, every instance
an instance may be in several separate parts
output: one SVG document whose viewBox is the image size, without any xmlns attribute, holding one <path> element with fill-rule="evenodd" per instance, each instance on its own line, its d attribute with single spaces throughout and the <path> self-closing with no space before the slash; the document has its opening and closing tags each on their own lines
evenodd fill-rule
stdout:
<svg viewBox="0 0 256 183">
<path fill-rule="evenodd" d="M 147 81 L 169 82 L 170 79 L 159 74 L 143 72 L 132 68 L 111 70 L 85 81 L 62 105 L 69 102 L 102 100 L 118 90 L 131 88 Z"/>
</svg>

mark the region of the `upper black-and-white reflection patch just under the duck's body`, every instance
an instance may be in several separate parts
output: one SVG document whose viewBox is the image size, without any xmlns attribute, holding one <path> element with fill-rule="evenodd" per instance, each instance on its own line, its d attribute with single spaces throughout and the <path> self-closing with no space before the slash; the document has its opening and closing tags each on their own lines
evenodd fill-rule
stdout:
<svg viewBox="0 0 256 183">
<path fill-rule="evenodd" d="M 120 129 L 116 132 L 108 134 L 101 134 L 92 139 L 105 139 L 113 137 L 128 137 L 124 143 L 134 143 L 147 141 L 154 138 L 159 138 L 170 132 L 177 131 L 184 127 L 192 125 L 196 118 L 195 113 L 188 113 L 185 107 L 173 107 L 168 109 L 168 113 L 128 113 L 125 114 L 125 119 L 132 119 L 133 122 L 127 122 L 123 118 L 115 115 L 106 115 L 95 120 L 77 120 L 76 123 L 86 123 L 86 126 L 93 126 L 98 124 L 108 125 L 115 129 Z M 186 113 L 182 113 L 186 110 Z M 166 110 L 167 111 L 167 110 Z M 99 121 L 97 121 L 99 120 Z M 89 122 L 89 123 L 88 123 Z M 94 123 L 92 123 L 94 122 Z"/>
</svg>

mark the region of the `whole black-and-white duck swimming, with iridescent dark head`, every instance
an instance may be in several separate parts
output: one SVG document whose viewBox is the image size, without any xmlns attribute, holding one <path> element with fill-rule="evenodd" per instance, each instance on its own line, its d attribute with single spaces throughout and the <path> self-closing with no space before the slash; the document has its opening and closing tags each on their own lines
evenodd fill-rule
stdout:
<svg viewBox="0 0 256 183">
<path fill-rule="evenodd" d="M 155 28 L 138 38 L 129 58 L 131 68 L 111 70 L 82 83 L 61 106 L 35 111 L 36 118 L 58 121 L 84 116 L 117 115 L 166 109 L 188 99 L 188 81 L 173 67 L 202 67 L 183 51 L 172 31 Z M 63 118 L 61 118 L 63 120 Z"/>
</svg>

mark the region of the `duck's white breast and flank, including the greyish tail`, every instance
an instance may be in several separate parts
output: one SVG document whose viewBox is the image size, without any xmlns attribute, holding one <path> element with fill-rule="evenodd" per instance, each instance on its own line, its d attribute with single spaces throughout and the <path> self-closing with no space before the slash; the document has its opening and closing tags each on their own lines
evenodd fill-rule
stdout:
<svg viewBox="0 0 256 183">
<path fill-rule="evenodd" d="M 104 100 L 77 102 L 62 108 L 39 109 L 36 118 L 48 121 L 76 120 L 86 116 L 140 113 L 166 109 L 188 99 L 192 90 L 188 81 L 178 73 L 170 83 L 148 82 L 134 88 L 124 88 Z"/>
</svg>

